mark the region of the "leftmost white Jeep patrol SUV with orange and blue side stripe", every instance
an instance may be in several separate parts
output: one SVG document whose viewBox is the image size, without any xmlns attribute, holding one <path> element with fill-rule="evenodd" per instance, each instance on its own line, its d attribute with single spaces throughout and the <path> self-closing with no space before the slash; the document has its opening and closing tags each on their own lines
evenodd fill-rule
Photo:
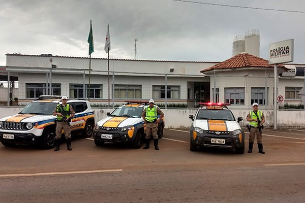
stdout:
<svg viewBox="0 0 305 203">
<path fill-rule="evenodd" d="M 61 96 L 42 95 L 26 105 L 17 115 L 0 119 L 0 142 L 11 147 L 15 144 L 35 144 L 44 149 L 54 146 L 55 120 L 52 115 Z M 75 116 L 71 119 L 72 133 L 82 132 L 92 136 L 95 124 L 94 112 L 86 100 L 71 99 Z"/>
</svg>

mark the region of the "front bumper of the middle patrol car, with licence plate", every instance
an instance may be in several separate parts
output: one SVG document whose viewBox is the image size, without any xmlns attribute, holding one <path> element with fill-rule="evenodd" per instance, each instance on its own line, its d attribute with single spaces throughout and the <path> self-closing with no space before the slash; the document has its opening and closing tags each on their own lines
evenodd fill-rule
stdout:
<svg viewBox="0 0 305 203">
<path fill-rule="evenodd" d="M 102 134 L 112 135 L 112 139 L 102 138 Z M 132 143 L 134 141 L 134 136 L 130 138 L 127 131 L 94 131 L 93 138 L 96 141 L 111 142 L 111 143 Z"/>
</svg>

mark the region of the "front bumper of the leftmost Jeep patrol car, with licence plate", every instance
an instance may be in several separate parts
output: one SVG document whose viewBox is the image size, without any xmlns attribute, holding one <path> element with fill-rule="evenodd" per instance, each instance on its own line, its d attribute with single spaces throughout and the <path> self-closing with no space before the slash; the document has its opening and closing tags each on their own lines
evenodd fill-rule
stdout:
<svg viewBox="0 0 305 203">
<path fill-rule="evenodd" d="M 13 134 L 14 139 L 3 138 L 3 134 Z M 0 142 L 35 145 L 40 142 L 40 139 L 41 139 L 41 136 L 35 136 L 35 134 L 32 134 L 32 133 L 3 133 L 3 132 L 0 132 Z"/>
</svg>

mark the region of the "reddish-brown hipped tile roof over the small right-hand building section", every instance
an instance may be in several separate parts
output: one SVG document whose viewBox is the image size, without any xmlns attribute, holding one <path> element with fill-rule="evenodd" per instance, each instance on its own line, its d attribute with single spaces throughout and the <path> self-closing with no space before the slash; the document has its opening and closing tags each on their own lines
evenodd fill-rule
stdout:
<svg viewBox="0 0 305 203">
<path fill-rule="evenodd" d="M 201 73 L 217 70 L 217 69 L 236 69 L 242 67 L 273 67 L 274 65 L 269 65 L 268 60 L 254 56 L 248 53 L 240 53 L 232 58 L 229 58 L 223 62 L 220 62 L 216 65 L 208 67 L 200 71 Z M 285 67 L 282 64 L 279 64 L 278 67 Z"/>
</svg>

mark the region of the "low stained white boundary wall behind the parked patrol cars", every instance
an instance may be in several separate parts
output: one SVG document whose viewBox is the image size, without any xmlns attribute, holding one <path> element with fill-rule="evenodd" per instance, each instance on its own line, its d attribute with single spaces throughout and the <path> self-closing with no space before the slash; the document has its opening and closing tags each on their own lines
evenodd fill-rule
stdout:
<svg viewBox="0 0 305 203">
<path fill-rule="evenodd" d="M 17 114 L 22 108 L 17 107 L 0 107 L 0 116 L 6 117 L 13 114 Z M 96 121 L 106 117 L 107 112 L 112 112 L 113 109 L 94 109 Z M 162 109 L 165 115 L 165 127 L 166 128 L 179 128 L 190 127 L 192 120 L 189 119 L 189 115 L 195 115 L 197 109 Z M 241 126 L 246 126 L 247 114 L 250 110 L 232 110 L 234 116 L 242 117 L 243 121 L 240 122 Z M 273 111 L 263 111 L 266 123 L 266 127 L 273 126 Z M 293 118 L 291 117 L 293 115 Z M 280 127 L 305 127 L 305 111 L 278 111 L 278 128 Z"/>
</svg>

